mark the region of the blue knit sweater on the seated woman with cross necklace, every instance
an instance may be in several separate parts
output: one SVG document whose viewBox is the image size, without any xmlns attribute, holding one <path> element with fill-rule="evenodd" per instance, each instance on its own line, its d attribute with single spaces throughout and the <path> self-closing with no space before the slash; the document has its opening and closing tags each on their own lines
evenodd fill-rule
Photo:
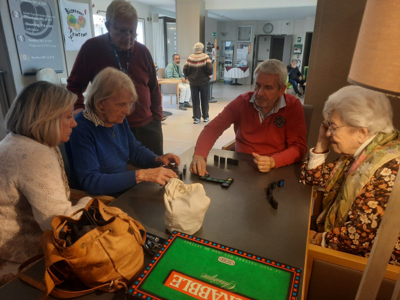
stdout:
<svg viewBox="0 0 400 300">
<path fill-rule="evenodd" d="M 95 126 L 82 112 L 75 120 L 77 126 L 65 143 L 71 187 L 92 195 L 118 192 L 136 184 L 135 171 L 126 169 L 129 160 L 141 166 L 155 165 L 157 155 L 135 139 L 126 118 L 113 127 Z"/>
</svg>

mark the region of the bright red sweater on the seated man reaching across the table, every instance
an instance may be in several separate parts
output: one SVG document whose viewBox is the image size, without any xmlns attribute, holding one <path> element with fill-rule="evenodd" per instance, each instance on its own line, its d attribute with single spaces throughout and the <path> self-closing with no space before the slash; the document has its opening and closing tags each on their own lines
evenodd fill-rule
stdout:
<svg viewBox="0 0 400 300">
<path fill-rule="evenodd" d="M 197 139 L 195 155 L 207 158 L 217 138 L 233 123 L 235 151 L 271 156 L 275 167 L 304 157 L 307 142 L 301 102 L 290 94 L 284 94 L 286 105 L 260 122 L 258 111 L 250 102 L 253 94 L 249 91 L 236 97 L 204 127 Z"/>
</svg>

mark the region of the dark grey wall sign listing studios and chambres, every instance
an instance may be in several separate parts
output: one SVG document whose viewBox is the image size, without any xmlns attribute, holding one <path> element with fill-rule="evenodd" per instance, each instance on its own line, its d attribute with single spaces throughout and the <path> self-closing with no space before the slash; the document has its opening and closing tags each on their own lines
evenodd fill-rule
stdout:
<svg viewBox="0 0 400 300">
<path fill-rule="evenodd" d="M 43 67 L 63 71 L 56 0 L 8 0 L 23 75 Z"/>
</svg>

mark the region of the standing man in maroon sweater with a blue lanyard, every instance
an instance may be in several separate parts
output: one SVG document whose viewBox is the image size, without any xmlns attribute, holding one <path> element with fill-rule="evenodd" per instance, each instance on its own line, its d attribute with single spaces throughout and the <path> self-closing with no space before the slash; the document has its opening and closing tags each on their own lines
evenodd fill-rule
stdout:
<svg viewBox="0 0 400 300">
<path fill-rule="evenodd" d="M 107 7 L 108 33 L 90 38 L 80 48 L 67 79 L 66 88 L 78 96 L 76 114 L 83 110 L 83 92 L 103 68 L 113 66 L 133 81 L 138 95 L 134 111 L 126 116 L 135 138 L 157 155 L 162 155 L 162 106 L 153 59 L 148 49 L 135 42 L 136 9 L 125 0 L 113 0 Z"/>
</svg>

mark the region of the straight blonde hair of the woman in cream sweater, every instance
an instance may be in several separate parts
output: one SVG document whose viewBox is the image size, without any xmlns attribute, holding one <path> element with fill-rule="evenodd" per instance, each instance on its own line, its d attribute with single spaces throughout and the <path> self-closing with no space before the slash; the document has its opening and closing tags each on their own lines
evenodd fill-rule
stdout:
<svg viewBox="0 0 400 300">
<path fill-rule="evenodd" d="M 8 132 L 25 135 L 42 144 L 59 144 L 60 119 L 77 97 L 65 88 L 47 81 L 25 86 L 5 116 Z"/>
</svg>

